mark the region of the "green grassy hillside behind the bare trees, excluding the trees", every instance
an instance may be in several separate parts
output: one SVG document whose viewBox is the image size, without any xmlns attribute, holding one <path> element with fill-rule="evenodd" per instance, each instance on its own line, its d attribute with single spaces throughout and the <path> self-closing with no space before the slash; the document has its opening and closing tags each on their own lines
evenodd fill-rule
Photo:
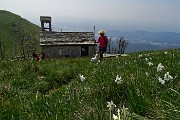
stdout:
<svg viewBox="0 0 180 120">
<path fill-rule="evenodd" d="M 22 35 L 30 36 L 30 41 L 36 45 L 36 50 L 40 50 L 40 28 L 37 25 L 30 23 L 16 14 L 4 10 L 0 10 L 0 23 L 0 40 L 3 44 L 3 51 L 6 57 L 11 57 L 15 47 L 16 49 L 19 47 L 15 44 L 16 41 L 19 40 L 19 35 L 13 31 L 13 24 L 20 29 Z M 20 53 L 17 54 L 20 55 Z"/>
</svg>

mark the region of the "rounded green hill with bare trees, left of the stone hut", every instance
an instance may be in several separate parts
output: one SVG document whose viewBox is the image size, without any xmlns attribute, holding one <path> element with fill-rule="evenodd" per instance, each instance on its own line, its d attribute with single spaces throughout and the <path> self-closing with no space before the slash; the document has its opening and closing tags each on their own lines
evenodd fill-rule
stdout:
<svg viewBox="0 0 180 120">
<path fill-rule="evenodd" d="M 39 51 L 40 27 L 14 13 L 0 10 L 0 58 L 28 57 Z"/>
</svg>

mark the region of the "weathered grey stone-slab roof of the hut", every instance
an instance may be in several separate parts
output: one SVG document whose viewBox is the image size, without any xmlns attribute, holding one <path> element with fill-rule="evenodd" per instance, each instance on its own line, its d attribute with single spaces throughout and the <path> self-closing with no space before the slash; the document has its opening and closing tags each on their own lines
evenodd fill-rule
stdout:
<svg viewBox="0 0 180 120">
<path fill-rule="evenodd" d="M 40 45 L 92 44 L 93 32 L 47 32 L 40 33 Z"/>
</svg>

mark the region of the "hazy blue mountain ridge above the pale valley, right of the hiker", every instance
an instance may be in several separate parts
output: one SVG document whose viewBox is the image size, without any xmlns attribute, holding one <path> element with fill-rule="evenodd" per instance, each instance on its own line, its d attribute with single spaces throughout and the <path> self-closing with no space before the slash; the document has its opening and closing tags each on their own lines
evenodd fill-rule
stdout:
<svg viewBox="0 0 180 120">
<path fill-rule="evenodd" d="M 139 41 L 152 41 L 157 43 L 171 43 L 180 44 L 180 33 L 174 32 L 147 32 L 143 30 L 137 31 L 119 31 L 110 30 L 107 32 L 108 35 L 113 37 L 127 38 L 129 40 L 139 40 Z"/>
</svg>

